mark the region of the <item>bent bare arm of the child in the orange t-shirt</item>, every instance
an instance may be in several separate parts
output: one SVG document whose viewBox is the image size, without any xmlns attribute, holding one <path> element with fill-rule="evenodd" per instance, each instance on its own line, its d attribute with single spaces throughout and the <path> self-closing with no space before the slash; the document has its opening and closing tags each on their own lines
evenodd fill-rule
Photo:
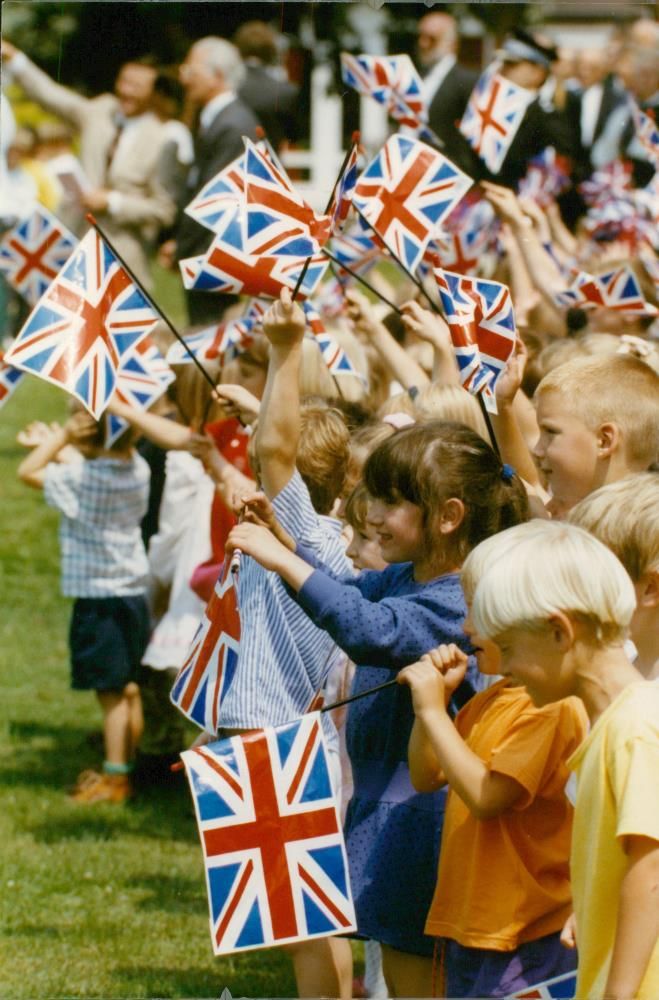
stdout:
<svg viewBox="0 0 659 1000">
<path fill-rule="evenodd" d="M 410 743 L 410 772 L 416 788 L 431 790 L 417 785 L 415 777 L 421 783 L 431 780 L 429 764 L 434 755 L 438 784 L 433 787 L 438 787 L 443 777 L 476 819 L 491 819 L 510 809 L 524 788 L 510 775 L 491 771 L 467 746 L 446 711 L 466 668 L 462 650 L 454 645 L 440 646 L 398 675 L 398 682 L 412 689 L 414 713 L 422 730 L 417 732 L 414 746 Z"/>
</svg>

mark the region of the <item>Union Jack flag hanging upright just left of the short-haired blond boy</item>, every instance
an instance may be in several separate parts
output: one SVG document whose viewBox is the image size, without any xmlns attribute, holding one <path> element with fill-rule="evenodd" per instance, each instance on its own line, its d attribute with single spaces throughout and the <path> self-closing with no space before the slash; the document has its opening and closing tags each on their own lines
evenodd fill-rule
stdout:
<svg viewBox="0 0 659 1000">
<path fill-rule="evenodd" d="M 460 382 L 483 394 L 496 413 L 494 387 L 515 350 L 517 328 L 510 291 L 498 281 L 470 278 L 437 268 L 437 286 L 451 333 Z"/>
</svg>

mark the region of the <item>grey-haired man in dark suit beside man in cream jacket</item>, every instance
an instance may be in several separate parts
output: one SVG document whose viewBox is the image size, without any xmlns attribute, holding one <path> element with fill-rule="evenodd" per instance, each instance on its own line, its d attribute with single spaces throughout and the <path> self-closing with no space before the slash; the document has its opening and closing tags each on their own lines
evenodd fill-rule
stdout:
<svg viewBox="0 0 659 1000">
<path fill-rule="evenodd" d="M 194 136 L 194 163 L 190 167 L 175 234 L 165 256 L 177 260 L 205 253 L 212 241 L 210 230 L 200 226 L 183 208 L 220 170 L 244 151 L 242 137 L 256 139 L 257 120 L 237 97 L 244 79 L 244 66 L 236 47 L 224 38 L 201 38 L 181 65 L 186 95 L 201 107 Z M 186 291 L 190 322 L 194 325 L 218 321 L 235 295 Z"/>
</svg>

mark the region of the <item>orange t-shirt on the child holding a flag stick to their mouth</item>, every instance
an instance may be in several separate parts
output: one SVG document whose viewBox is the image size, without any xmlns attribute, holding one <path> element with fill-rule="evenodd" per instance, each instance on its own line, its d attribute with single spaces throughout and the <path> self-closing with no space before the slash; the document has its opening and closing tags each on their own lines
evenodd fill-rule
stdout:
<svg viewBox="0 0 659 1000">
<path fill-rule="evenodd" d="M 472 698 L 455 725 L 491 771 L 514 778 L 525 793 L 499 816 L 479 820 L 449 790 L 426 934 L 513 951 L 560 930 L 571 912 L 566 761 L 588 719 L 576 698 L 535 708 L 525 688 L 503 680 Z"/>
</svg>

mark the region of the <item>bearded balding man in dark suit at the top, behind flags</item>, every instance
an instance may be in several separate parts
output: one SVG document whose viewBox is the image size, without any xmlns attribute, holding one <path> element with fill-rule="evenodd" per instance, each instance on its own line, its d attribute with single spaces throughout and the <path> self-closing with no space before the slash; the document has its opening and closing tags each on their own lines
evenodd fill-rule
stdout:
<svg viewBox="0 0 659 1000">
<path fill-rule="evenodd" d="M 428 124 L 441 139 L 442 152 L 452 159 L 456 122 L 462 118 L 478 73 L 457 61 L 458 29 L 450 14 L 433 12 L 418 25 L 416 61 L 422 76 Z M 461 144 L 460 144 L 461 145 Z"/>
</svg>

